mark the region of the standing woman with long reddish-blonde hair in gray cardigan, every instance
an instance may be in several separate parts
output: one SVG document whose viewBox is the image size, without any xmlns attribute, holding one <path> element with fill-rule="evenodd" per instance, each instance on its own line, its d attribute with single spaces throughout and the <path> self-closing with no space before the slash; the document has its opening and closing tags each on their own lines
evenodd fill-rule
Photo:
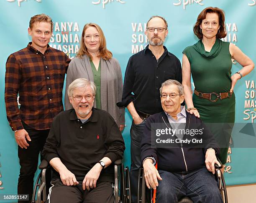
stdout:
<svg viewBox="0 0 256 203">
<path fill-rule="evenodd" d="M 65 109 L 72 109 L 67 95 L 69 84 L 86 78 L 97 86 L 94 107 L 107 111 L 123 130 L 125 109 L 116 105 L 122 100 L 123 79 L 118 61 L 106 47 L 106 39 L 99 25 L 84 25 L 77 57 L 69 63 L 66 78 Z"/>
</svg>

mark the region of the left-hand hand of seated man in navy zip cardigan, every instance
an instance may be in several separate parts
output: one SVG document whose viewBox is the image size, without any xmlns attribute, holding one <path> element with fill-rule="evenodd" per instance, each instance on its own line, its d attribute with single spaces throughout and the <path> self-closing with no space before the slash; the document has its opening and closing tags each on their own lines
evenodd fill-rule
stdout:
<svg viewBox="0 0 256 203">
<path fill-rule="evenodd" d="M 155 190 L 158 186 L 157 180 L 162 180 L 162 178 L 159 175 L 158 170 L 156 170 L 156 167 L 153 165 L 153 160 L 150 158 L 144 160 L 143 169 L 147 187 L 150 188 L 151 186 Z"/>
</svg>

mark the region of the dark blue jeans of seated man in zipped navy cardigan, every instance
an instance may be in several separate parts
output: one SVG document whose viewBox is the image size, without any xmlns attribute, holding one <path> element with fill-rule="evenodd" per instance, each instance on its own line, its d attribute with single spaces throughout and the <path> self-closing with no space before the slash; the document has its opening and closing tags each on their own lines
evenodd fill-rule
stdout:
<svg viewBox="0 0 256 203">
<path fill-rule="evenodd" d="M 206 167 L 184 173 L 159 170 L 163 180 L 158 180 L 156 203 L 178 203 L 189 196 L 196 203 L 223 203 L 215 176 Z"/>
</svg>

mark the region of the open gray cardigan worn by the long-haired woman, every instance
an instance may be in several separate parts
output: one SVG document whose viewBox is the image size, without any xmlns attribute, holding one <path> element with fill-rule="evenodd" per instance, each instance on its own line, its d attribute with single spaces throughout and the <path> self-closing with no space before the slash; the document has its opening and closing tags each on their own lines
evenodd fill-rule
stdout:
<svg viewBox="0 0 256 203">
<path fill-rule="evenodd" d="M 123 79 L 120 64 L 115 58 L 104 60 L 100 58 L 100 101 L 101 109 L 107 111 L 115 122 L 125 124 L 125 109 L 118 107 L 116 103 L 122 101 Z M 69 63 L 66 78 L 65 110 L 72 109 L 69 102 L 67 88 L 75 79 L 86 78 L 94 82 L 90 58 L 87 55 L 82 58 L 75 57 Z M 96 107 L 96 102 L 93 104 Z"/>
</svg>

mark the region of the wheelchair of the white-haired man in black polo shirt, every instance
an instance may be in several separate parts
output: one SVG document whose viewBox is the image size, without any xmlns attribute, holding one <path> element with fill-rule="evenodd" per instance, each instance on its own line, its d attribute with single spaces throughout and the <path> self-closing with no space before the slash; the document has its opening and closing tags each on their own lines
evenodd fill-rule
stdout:
<svg viewBox="0 0 256 203">
<path fill-rule="evenodd" d="M 46 170 L 52 170 L 52 167 L 42 160 L 38 168 L 41 172 L 36 179 L 31 203 L 47 203 Z M 122 160 L 114 162 L 114 175 L 115 203 L 131 203 L 129 167 L 124 168 Z"/>
</svg>

